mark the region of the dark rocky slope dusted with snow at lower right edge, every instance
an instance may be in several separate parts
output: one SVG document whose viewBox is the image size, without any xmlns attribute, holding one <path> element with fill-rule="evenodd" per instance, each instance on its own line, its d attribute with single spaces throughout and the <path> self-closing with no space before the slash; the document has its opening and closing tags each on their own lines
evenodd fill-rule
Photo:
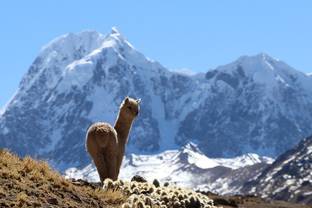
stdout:
<svg viewBox="0 0 312 208">
<path fill-rule="evenodd" d="M 312 204 L 312 137 L 279 156 L 243 191 L 264 198 Z"/>
</svg>

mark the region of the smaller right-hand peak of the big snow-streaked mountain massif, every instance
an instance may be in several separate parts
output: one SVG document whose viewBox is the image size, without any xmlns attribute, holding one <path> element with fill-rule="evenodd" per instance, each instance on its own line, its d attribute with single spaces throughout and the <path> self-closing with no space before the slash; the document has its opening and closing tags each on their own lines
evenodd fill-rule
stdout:
<svg viewBox="0 0 312 208">
<path fill-rule="evenodd" d="M 311 134 L 311 78 L 285 63 L 266 54 L 244 56 L 205 78 L 204 106 L 182 121 L 178 141 L 196 138 L 212 156 L 220 154 L 220 143 L 225 154 L 276 156 Z"/>
</svg>

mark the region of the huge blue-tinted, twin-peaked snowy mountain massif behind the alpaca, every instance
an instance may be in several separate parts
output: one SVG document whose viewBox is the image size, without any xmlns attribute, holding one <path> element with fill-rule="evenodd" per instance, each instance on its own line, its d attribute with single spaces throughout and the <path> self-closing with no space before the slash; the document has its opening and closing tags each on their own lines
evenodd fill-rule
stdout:
<svg viewBox="0 0 312 208">
<path fill-rule="evenodd" d="M 116 29 L 66 34 L 45 46 L 0 115 L 0 147 L 60 170 L 90 163 L 85 132 L 114 123 L 125 96 L 142 98 L 128 152 L 192 141 L 212 157 L 277 156 L 312 132 L 312 77 L 266 54 L 206 74 L 171 72 Z"/>
</svg>

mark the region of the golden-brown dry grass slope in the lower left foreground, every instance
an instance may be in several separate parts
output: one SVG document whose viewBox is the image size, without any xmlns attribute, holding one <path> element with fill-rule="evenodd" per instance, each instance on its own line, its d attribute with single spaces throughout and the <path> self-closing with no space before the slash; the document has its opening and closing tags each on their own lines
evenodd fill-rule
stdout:
<svg viewBox="0 0 312 208">
<path fill-rule="evenodd" d="M 120 191 L 72 183 L 46 162 L 0 150 L 0 207 L 120 207 L 126 199 Z"/>
</svg>

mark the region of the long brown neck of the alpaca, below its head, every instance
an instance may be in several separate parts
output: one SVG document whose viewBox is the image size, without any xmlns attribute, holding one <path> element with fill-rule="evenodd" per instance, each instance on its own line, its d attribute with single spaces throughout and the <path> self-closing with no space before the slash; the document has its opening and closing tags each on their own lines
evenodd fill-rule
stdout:
<svg viewBox="0 0 312 208">
<path fill-rule="evenodd" d="M 127 144 L 131 125 L 132 120 L 123 119 L 120 115 L 118 115 L 114 128 L 117 132 L 119 147 L 122 150 L 124 150 Z"/>
</svg>

